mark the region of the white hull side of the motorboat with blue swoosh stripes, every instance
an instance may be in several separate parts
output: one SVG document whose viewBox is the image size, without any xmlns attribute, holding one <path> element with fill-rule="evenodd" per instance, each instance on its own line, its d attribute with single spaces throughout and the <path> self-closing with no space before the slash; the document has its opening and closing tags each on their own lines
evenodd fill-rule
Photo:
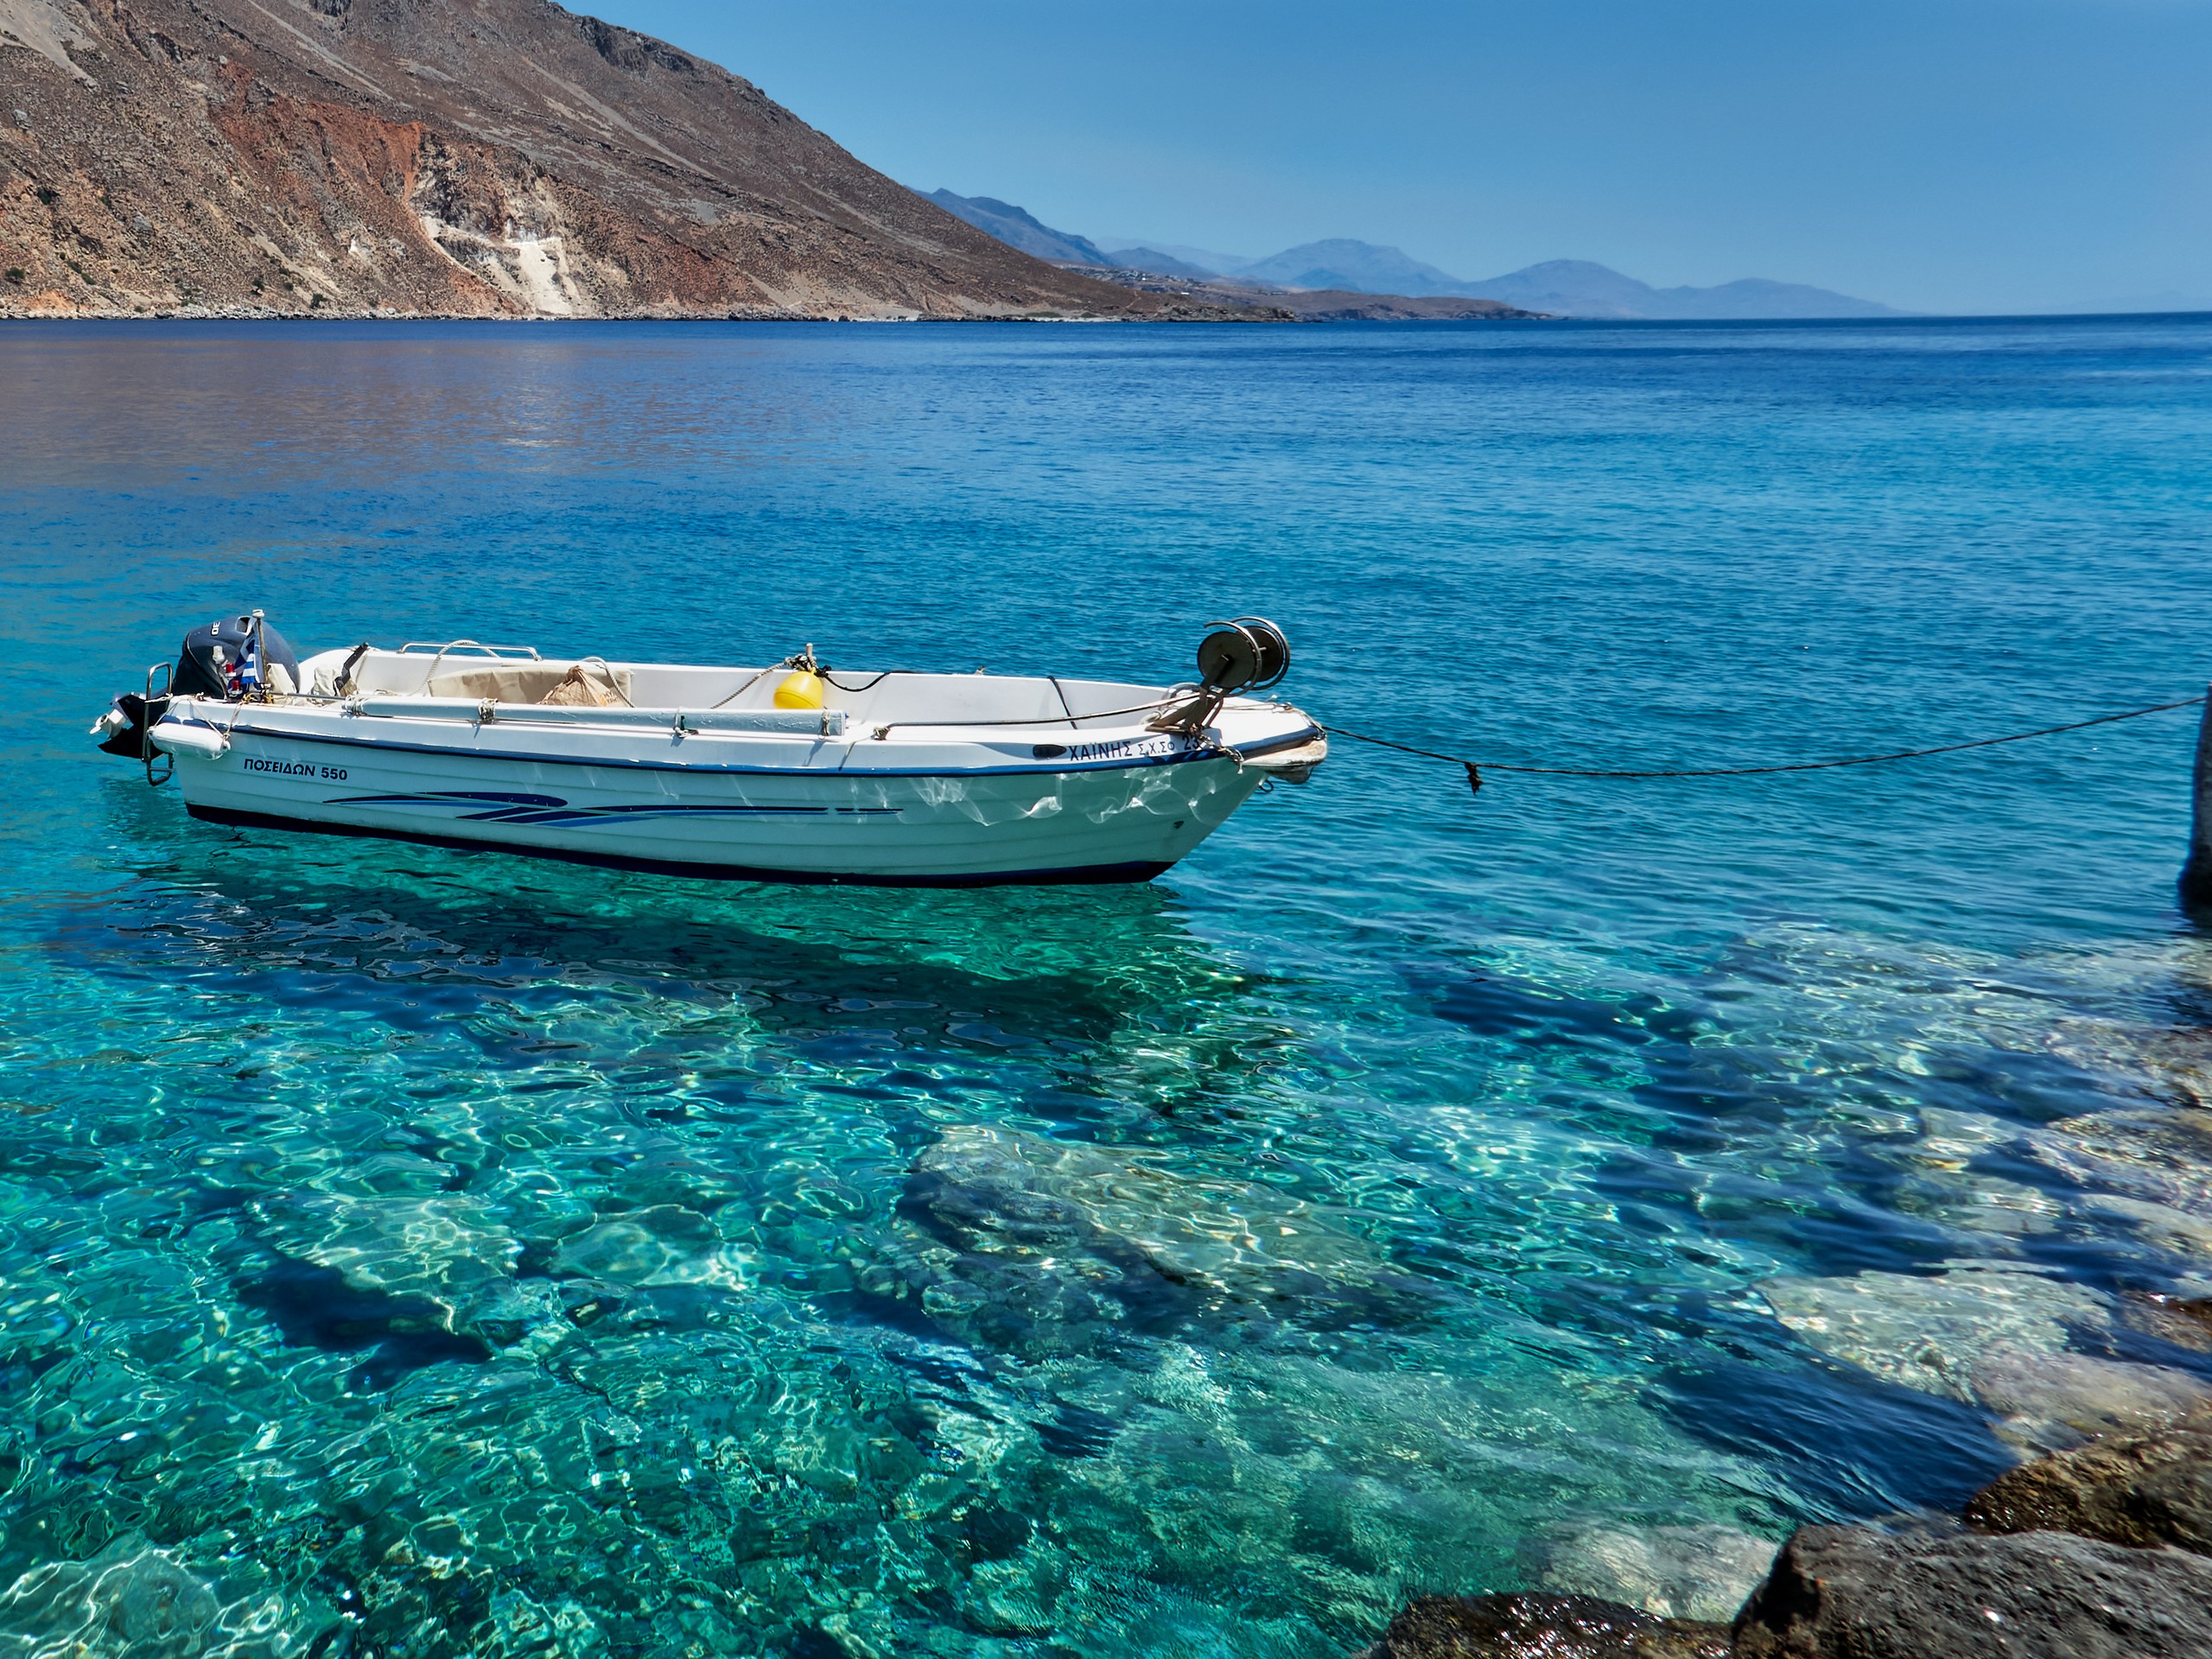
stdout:
<svg viewBox="0 0 2212 1659">
<path fill-rule="evenodd" d="M 856 757 L 867 745 L 801 737 L 639 743 L 487 726 L 462 745 L 409 743 L 396 728 L 414 721 L 378 721 L 367 741 L 343 732 L 367 721 L 279 723 L 294 730 L 217 721 L 197 743 L 164 743 L 192 816 L 732 880 L 1150 880 L 1265 781 L 1190 743 L 1068 770 L 927 772 L 898 765 L 896 745 Z"/>
</svg>

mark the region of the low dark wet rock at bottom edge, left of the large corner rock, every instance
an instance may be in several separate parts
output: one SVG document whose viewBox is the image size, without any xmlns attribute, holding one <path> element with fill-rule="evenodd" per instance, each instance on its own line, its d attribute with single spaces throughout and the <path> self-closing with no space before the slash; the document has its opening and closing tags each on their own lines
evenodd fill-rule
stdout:
<svg viewBox="0 0 2212 1659">
<path fill-rule="evenodd" d="M 1728 1659 L 1728 1626 L 1590 1595 L 1425 1595 L 1369 1659 Z"/>
</svg>

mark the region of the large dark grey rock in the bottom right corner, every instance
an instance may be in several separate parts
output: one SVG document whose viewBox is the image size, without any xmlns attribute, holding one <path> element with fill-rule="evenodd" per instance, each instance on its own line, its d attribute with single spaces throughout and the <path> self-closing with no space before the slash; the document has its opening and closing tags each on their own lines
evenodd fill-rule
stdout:
<svg viewBox="0 0 2212 1659">
<path fill-rule="evenodd" d="M 2212 1659 L 2212 1562 L 2070 1533 L 1807 1526 L 1736 1615 L 1739 1659 Z"/>
</svg>

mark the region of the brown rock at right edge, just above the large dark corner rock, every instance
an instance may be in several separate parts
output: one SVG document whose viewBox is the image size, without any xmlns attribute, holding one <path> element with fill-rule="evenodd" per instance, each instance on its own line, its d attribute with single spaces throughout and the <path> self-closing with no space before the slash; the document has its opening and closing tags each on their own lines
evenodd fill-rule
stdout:
<svg viewBox="0 0 2212 1659">
<path fill-rule="evenodd" d="M 2011 1469 L 1973 1495 L 1966 1520 L 1984 1533 L 2064 1531 L 2212 1555 L 2212 1409 Z M 2203 1617 L 2212 1626 L 2212 1608 Z"/>
</svg>

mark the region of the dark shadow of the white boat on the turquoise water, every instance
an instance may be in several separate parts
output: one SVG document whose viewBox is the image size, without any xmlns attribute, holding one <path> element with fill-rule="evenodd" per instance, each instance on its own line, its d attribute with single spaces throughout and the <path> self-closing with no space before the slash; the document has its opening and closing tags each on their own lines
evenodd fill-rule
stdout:
<svg viewBox="0 0 2212 1659">
<path fill-rule="evenodd" d="M 108 980 L 465 1031 L 493 1066 L 557 1040 L 637 1062 L 710 1048 L 849 1066 L 975 1055 L 1040 1071 L 1031 1110 L 1113 1095 L 1212 1110 L 1287 1042 L 1157 887 L 699 887 L 504 854 L 301 843 L 177 821 L 117 779 L 137 880 L 62 914 L 51 949 Z M 1124 1051 L 1179 1053 L 1130 1088 Z M 1108 1077 L 1110 1073 L 1110 1077 Z M 1066 1095 L 1066 1099 L 1055 1099 Z M 1086 1099 L 1088 1097 L 1088 1099 Z"/>
</svg>

